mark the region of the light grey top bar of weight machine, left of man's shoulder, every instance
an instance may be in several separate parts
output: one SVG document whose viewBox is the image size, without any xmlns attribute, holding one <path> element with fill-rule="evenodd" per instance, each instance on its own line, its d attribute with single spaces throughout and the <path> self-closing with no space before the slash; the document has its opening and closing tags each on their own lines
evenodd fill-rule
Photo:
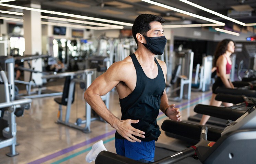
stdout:
<svg viewBox="0 0 256 164">
<path fill-rule="evenodd" d="M 57 73 L 57 74 L 47 74 L 45 76 L 42 76 L 42 79 L 50 79 L 50 78 L 63 78 L 67 76 L 76 76 L 81 73 L 92 73 L 96 71 L 96 68 L 93 69 L 85 69 L 85 70 L 80 70 L 80 71 L 75 71 L 75 72 L 63 72 L 63 73 Z"/>
</svg>

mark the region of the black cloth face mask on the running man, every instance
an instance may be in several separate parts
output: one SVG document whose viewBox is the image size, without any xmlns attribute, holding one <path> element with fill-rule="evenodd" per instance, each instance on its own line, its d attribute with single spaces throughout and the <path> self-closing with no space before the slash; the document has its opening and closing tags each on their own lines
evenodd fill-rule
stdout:
<svg viewBox="0 0 256 164">
<path fill-rule="evenodd" d="M 144 36 L 144 35 L 143 35 Z M 162 37 L 147 37 L 144 36 L 147 41 L 147 44 L 142 43 L 149 51 L 155 55 L 162 55 L 164 53 L 165 44 L 167 39 L 165 36 Z"/>
</svg>

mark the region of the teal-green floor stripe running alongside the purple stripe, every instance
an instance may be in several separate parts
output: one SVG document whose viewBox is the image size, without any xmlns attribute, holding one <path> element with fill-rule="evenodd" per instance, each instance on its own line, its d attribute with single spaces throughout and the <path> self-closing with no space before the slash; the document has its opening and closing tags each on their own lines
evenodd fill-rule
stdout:
<svg viewBox="0 0 256 164">
<path fill-rule="evenodd" d="M 202 100 L 199 100 L 199 101 L 197 101 L 197 102 L 194 102 L 193 104 L 187 105 L 187 106 L 181 108 L 180 110 L 183 110 L 183 109 L 185 109 L 185 108 L 187 108 L 187 107 L 191 107 L 191 106 L 193 106 L 193 105 L 198 104 L 199 102 L 208 100 L 208 99 L 210 99 L 210 98 L 211 98 L 211 95 L 209 95 L 209 96 L 206 97 L 205 99 L 202 99 Z M 162 117 L 160 117 L 160 118 L 158 118 L 158 119 L 156 119 L 156 120 L 161 120 L 161 119 L 163 119 L 163 118 L 165 118 L 165 117 L 166 117 L 166 116 L 164 115 L 164 116 L 162 116 Z M 115 139 L 115 137 L 109 138 L 109 139 L 103 141 L 103 143 L 110 142 L 110 141 L 112 141 L 112 140 L 114 140 L 114 139 Z M 60 159 L 60 160 L 58 160 L 58 161 L 56 161 L 56 162 L 53 162 L 53 163 L 51 163 L 51 164 L 59 164 L 59 163 L 65 162 L 65 161 L 67 161 L 67 160 L 69 160 L 69 159 L 71 159 L 71 158 L 74 158 L 75 156 L 78 156 L 78 155 L 80 155 L 80 154 L 82 154 L 82 153 L 85 153 L 86 151 L 90 151 L 91 149 L 92 149 L 92 147 L 86 148 L 86 149 L 84 149 L 84 150 L 81 150 L 81 151 L 79 151 L 79 152 L 77 152 L 77 153 L 74 153 L 74 154 L 72 154 L 72 155 L 69 155 L 69 156 L 67 156 L 67 157 L 65 157 L 65 158 L 62 158 L 62 159 Z M 84 159 L 85 159 L 85 156 L 84 156 Z"/>
</svg>

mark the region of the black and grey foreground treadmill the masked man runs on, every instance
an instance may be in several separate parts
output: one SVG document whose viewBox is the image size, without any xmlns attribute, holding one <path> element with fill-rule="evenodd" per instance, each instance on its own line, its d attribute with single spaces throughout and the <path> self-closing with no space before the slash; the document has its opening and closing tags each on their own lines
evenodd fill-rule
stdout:
<svg viewBox="0 0 256 164">
<path fill-rule="evenodd" d="M 254 164 L 256 142 L 256 110 L 255 106 L 249 108 L 240 118 L 230 122 L 223 131 L 208 128 L 204 125 L 194 125 L 184 122 L 165 120 L 162 129 L 183 137 L 198 139 L 199 142 L 183 151 L 168 155 L 156 160 L 152 164 L 172 164 L 189 159 L 188 162 L 200 161 L 203 164 Z M 225 109 L 223 109 L 225 110 Z M 228 111 L 227 111 L 228 112 Z M 186 131 L 187 127 L 190 131 Z M 158 151 L 158 150 L 156 150 Z M 191 158 L 193 156 L 194 160 Z M 98 154 L 95 164 L 142 164 L 112 152 L 102 151 Z"/>
</svg>

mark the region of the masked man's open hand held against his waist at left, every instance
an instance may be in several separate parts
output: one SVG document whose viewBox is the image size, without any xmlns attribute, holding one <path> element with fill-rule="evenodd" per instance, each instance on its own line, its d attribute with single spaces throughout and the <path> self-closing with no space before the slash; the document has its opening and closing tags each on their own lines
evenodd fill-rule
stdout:
<svg viewBox="0 0 256 164">
<path fill-rule="evenodd" d="M 117 133 L 120 134 L 122 137 L 127 139 L 130 142 L 141 142 L 141 140 L 137 139 L 136 137 L 132 136 L 138 136 L 141 138 L 145 138 L 142 134 L 145 134 L 144 132 L 140 131 L 139 129 L 136 129 L 131 126 L 131 124 L 136 124 L 138 123 L 139 120 L 121 120 L 118 124 L 117 127 L 115 128 Z"/>
</svg>

